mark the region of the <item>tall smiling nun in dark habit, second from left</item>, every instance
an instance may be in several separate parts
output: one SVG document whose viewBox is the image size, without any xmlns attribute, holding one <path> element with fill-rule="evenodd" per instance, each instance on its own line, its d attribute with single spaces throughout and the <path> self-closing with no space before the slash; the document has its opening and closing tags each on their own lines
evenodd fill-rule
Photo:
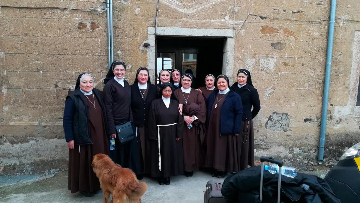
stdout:
<svg viewBox="0 0 360 203">
<path fill-rule="evenodd" d="M 135 127 L 131 111 L 131 87 L 124 80 L 125 63 L 114 61 L 104 79 L 103 100 L 107 112 L 109 136 L 115 137 L 115 150 L 110 150 L 110 157 L 122 167 L 130 168 L 135 174 L 140 174 L 139 151 L 137 137 L 127 143 L 120 143 L 119 135 L 115 128 L 128 121 L 131 122 L 133 131 Z"/>
</svg>

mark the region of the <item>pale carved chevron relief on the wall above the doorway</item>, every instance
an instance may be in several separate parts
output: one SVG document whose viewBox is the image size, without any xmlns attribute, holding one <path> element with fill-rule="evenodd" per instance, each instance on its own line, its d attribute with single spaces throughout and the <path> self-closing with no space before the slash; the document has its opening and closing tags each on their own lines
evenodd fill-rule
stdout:
<svg viewBox="0 0 360 203">
<path fill-rule="evenodd" d="M 211 8 L 215 4 L 226 0 L 161 0 L 163 3 L 175 8 L 183 13 L 192 14 L 199 10 Z"/>
</svg>

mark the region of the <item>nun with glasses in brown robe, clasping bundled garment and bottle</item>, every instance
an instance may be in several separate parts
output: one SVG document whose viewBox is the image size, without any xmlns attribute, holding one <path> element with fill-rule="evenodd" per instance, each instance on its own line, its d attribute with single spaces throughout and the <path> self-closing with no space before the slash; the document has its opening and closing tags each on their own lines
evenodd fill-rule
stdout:
<svg viewBox="0 0 360 203">
<path fill-rule="evenodd" d="M 174 94 L 180 103 L 183 103 L 184 127 L 184 173 L 187 177 L 193 176 L 193 171 L 199 169 L 201 140 L 199 126 L 206 120 L 206 104 L 199 91 L 191 88 L 193 75 L 185 73 L 181 76 L 181 88 Z M 195 105 L 192 105 L 195 104 Z M 191 107 L 189 107 L 192 105 Z"/>
</svg>

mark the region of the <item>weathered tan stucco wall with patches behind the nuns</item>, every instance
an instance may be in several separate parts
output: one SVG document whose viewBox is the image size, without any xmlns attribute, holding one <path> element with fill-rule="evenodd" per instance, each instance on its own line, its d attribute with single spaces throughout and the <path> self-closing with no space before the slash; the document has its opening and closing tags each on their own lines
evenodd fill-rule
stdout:
<svg viewBox="0 0 360 203">
<path fill-rule="evenodd" d="M 102 0 L 0 0 L 0 5 L 106 6 Z M 352 0 L 337 4 L 336 16 L 345 20 L 338 19 L 335 27 L 325 165 L 360 141 L 360 110 L 354 102 L 360 23 L 346 20 L 360 19 L 359 6 Z M 148 54 L 154 55 L 143 43 L 154 27 L 156 7 L 155 0 L 114 1 L 114 57 L 126 62 L 130 83 L 138 67 L 148 66 Z M 232 0 L 160 0 L 158 26 L 235 28 L 231 80 L 237 69 L 249 69 L 262 105 L 254 120 L 256 158 L 271 155 L 312 168 L 317 166 L 328 22 L 308 21 L 327 19 L 329 7 L 329 0 L 246 0 L 236 1 L 235 9 Z M 67 91 L 62 88 L 73 88 L 79 73 L 90 72 L 102 89 L 106 11 L 0 9 L 2 174 L 66 168 L 62 113 Z"/>
</svg>

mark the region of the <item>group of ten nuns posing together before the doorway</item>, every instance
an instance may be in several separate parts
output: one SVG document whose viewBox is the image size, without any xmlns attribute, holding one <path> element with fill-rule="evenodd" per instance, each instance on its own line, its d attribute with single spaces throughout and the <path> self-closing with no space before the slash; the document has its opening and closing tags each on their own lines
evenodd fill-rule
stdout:
<svg viewBox="0 0 360 203">
<path fill-rule="evenodd" d="M 128 121 L 133 124 L 136 134 L 127 143 L 120 143 L 115 139 L 116 150 L 108 150 L 107 147 L 99 152 L 95 149 L 97 143 L 93 142 L 83 155 L 83 144 L 75 148 L 73 145 L 69 146 L 72 154 L 69 154 L 69 163 L 72 163 L 69 164 L 69 190 L 84 190 L 71 188 L 76 185 L 71 182 L 79 180 L 78 177 L 73 178 L 71 173 L 79 175 L 79 172 L 74 172 L 75 162 L 80 165 L 90 164 L 85 168 L 91 169 L 90 157 L 96 153 L 108 153 L 114 162 L 131 168 L 138 179 L 142 179 L 145 174 L 150 175 L 157 178 L 160 185 L 169 185 L 170 176 L 184 174 L 192 177 L 193 172 L 199 168 L 210 168 L 212 177 L 223 178 L 227 172 L 237 172 L 248 165 L 254 166 L 252 119 L 260 110 L 260 100 L 248 70 L 240 69 L 237 82 L 231 86 L 227 76 L 215 77 L 208 74 L 205 86 L 199 89 L 192 88 L 194 76 L 191 71 L 181 75 L 177 69 L 163 69 L 159 72 L 159 83 L 156 85 L 151 84 L 146 67 L 136 71 L 132 85 L 124 80 L 125 71 L 125 63 L 114 61 L 111 64 L 104 80 L 103 99 L 100 98 L 99 90 L 93 88 L 94 81 L 88 73 L 85 75 L 91 77 L 85 79 L 92 80 L 92 84 L 87 85 L 91 88 L 86 89 L 87 86 L 83 88 L 80 85 L 67 97 L 68 100 L 73 94 L 74 98 L 80 99 L 72 101 L 72 104 L 66 102 L 64 119 L 65 112 L 73 111 L 72 117 L 86 114 L 89 119 L 85 127 L 90 129 L 86 132 L 73 132 L 72 136 L 65 133 L 68 146 L 72 138 L 76 146 L 75 136 L 86 137 L 86 133 L 90 139 L 105 135 L 116 138 L 118 132 L 115 126 Z M 85 79 L 82 74 L 77 83 L 82 84 Z M 96 135 L 91 131 L 91 126 L 95 124 L 89 117 L 92 108 L 95 108 L 93 103 L 99 106 L 101 115 L 99 113 L 97 119 L 102 121 L 97 125 L 101 123 L 104 131 Z M 69 105 L 73 106 L 71 110 L 67 108 Z M 72 122 L 72 126 L 77 124 L 74 123 L 77 122 L 74 118 Z M 77 130 L 79 128 L 72 128 L 72 131 Z M 64 131 L 66 132 L 65 125 Z M 78 158 L 73 158 L 74 154 Z M 85 161 L 81 162 L 81 159 Z M 76 166 L 75 171 L 78 169 L 79 166 Z M 90 170 L 87 175 L 93 177 Z M 91 193 L 94 188 L 96 187 L 84 191 Z"/>
</svg>

